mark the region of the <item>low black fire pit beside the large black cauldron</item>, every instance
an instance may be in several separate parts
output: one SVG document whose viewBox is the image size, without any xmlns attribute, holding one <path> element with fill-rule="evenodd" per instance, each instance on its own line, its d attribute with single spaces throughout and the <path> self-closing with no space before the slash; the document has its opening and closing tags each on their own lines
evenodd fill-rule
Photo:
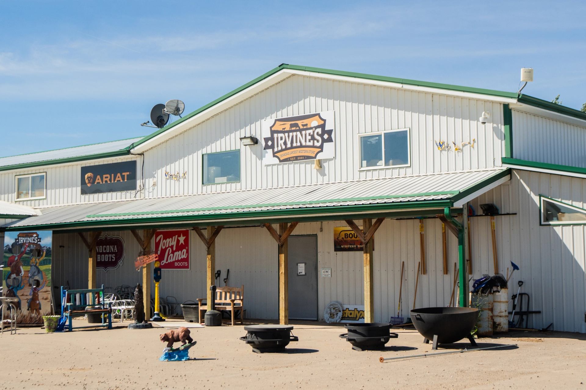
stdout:
<svg viewBox="0 0 586 390">
<path fill-rule="evenodd" d="M 346 324 L 348 333 L 340 334 L 342 339 L 350 341 L 352 349 L 356 351 L 381 350 L 389 339 L 396 339 L 397 333 L 390 333 L 391 324 L 366 322 Z"/>
</svg>

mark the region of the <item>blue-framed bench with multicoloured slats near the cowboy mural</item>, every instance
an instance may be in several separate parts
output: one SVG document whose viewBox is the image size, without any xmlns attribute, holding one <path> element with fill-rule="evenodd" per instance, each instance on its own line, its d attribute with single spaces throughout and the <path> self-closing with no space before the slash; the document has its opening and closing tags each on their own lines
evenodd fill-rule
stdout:
<svg viewBox="0 0 586 390">
<path fill-rule="evenodd" d="M 73 330 L 73 317 L 83 317 L 87 314 L 101 314 L 102 323 L 76 326 L 76 328 L 107 326 L 108 329 L 112 329 L 112 303 L 108 303 L 108 306 L 105 305 L 104 285 L 102 285 L 102 288 L 81 290 L 67 290 L 62 286 L 61 298 L 62 302 L 65 302 L 65 305 L 61 308 L 61 316 L 67 317 L 70 331 Z M 105 323 L 104 317 L 107 317 L 108 323 Z"/>
</svg>

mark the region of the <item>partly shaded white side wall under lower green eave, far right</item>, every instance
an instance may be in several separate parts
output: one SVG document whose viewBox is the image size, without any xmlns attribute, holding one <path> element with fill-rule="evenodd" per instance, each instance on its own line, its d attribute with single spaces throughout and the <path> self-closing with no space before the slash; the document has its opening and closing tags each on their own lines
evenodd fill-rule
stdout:
<svg viewBox="0 0 586 390">
<path fill-rule="evenodd" d="M 515 170 L 510 185 L 501 185 L 479 196 L 473 206 L 493 202 L 501 212 L 517 215 L 496 217 L 500 272 L 506 274 L 510 261 L 519 265 L 513 274 L 509 294 L 531 296 L 530 327 L 567 332 L 586 332 L 586 226 L 540 226 L 539 194 L 584 208 L 586 180 L 561 175 Z M 474 278 L 492 274 L 492 245 L 489 218 L 471 218 Z M 512 271 L 512 269 L 510 269 Z"/>
</svg>

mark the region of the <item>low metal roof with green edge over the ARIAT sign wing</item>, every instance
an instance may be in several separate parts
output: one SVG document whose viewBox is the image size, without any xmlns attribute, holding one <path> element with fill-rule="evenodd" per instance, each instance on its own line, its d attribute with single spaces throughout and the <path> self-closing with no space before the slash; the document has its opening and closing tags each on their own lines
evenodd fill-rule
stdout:
<svg viewBox="0 0 586 390">
<path fill-rule="evenodd" d="M 117 141 L 0 157 L 0 171 L 32 168 L 39 165 L 71 163 L 73 161 L 94 160 L 96 158 L 126 156 L 130 154 L 130 145 L 142 138 L 132 137 Z"/>
</svg>

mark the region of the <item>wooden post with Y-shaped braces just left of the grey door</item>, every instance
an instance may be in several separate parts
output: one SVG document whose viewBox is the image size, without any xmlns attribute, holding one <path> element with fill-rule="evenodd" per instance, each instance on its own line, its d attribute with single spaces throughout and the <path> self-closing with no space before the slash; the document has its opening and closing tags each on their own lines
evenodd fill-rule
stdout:
<svg viewBox="0 0 586 390">
<path fill-rule="evenodd" d="M 288 237 L 293 233 L 299 222 L 279 223 L 279 232 L 270 223 L 265 223 L 268 233 L 277 241 L 279 247 L 279 323 L 289 324 L 289 264 L 288 264 Z"/>
</svg>

